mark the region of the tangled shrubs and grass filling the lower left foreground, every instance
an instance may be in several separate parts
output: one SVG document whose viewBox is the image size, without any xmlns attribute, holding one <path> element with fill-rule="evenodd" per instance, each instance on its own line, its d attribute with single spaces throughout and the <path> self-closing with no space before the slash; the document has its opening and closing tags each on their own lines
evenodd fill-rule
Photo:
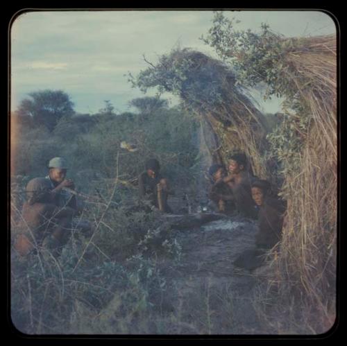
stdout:
<svg viewBox="0 0 347 346">
<path fill-rule="evenodd" d="M 180 245 L 159 214 L 130 210 L 126 200 L 110 207 L 98 229 L 104 208 L 86 207 L 83 218 L 94 224 L 95 234 L 74 230 L 58 259 L 40 248 L 25 260 L 11 251 L 11 318 L 19 331 L 149 332 L 142 323 L 158 313 L 166 289 L 158 260 L 177 261 Z"/>
</svg>

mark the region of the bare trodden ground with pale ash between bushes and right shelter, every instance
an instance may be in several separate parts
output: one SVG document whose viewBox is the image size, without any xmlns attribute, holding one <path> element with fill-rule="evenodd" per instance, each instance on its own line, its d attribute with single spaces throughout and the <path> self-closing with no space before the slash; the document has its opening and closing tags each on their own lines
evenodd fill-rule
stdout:
<svg viewBox="0 0 347 346">
<path fill-rule="evenodd" d="M 172 334 L 262 333 L 253 307 L 257 277 L 232 263 L 253 248 L 256 232 L 255 221 L 240 216 L 172 230 L 182 246 L 181 258 L 160 268 L 167 280 L 160 309 L 178 322 Z"/>
</svg>

